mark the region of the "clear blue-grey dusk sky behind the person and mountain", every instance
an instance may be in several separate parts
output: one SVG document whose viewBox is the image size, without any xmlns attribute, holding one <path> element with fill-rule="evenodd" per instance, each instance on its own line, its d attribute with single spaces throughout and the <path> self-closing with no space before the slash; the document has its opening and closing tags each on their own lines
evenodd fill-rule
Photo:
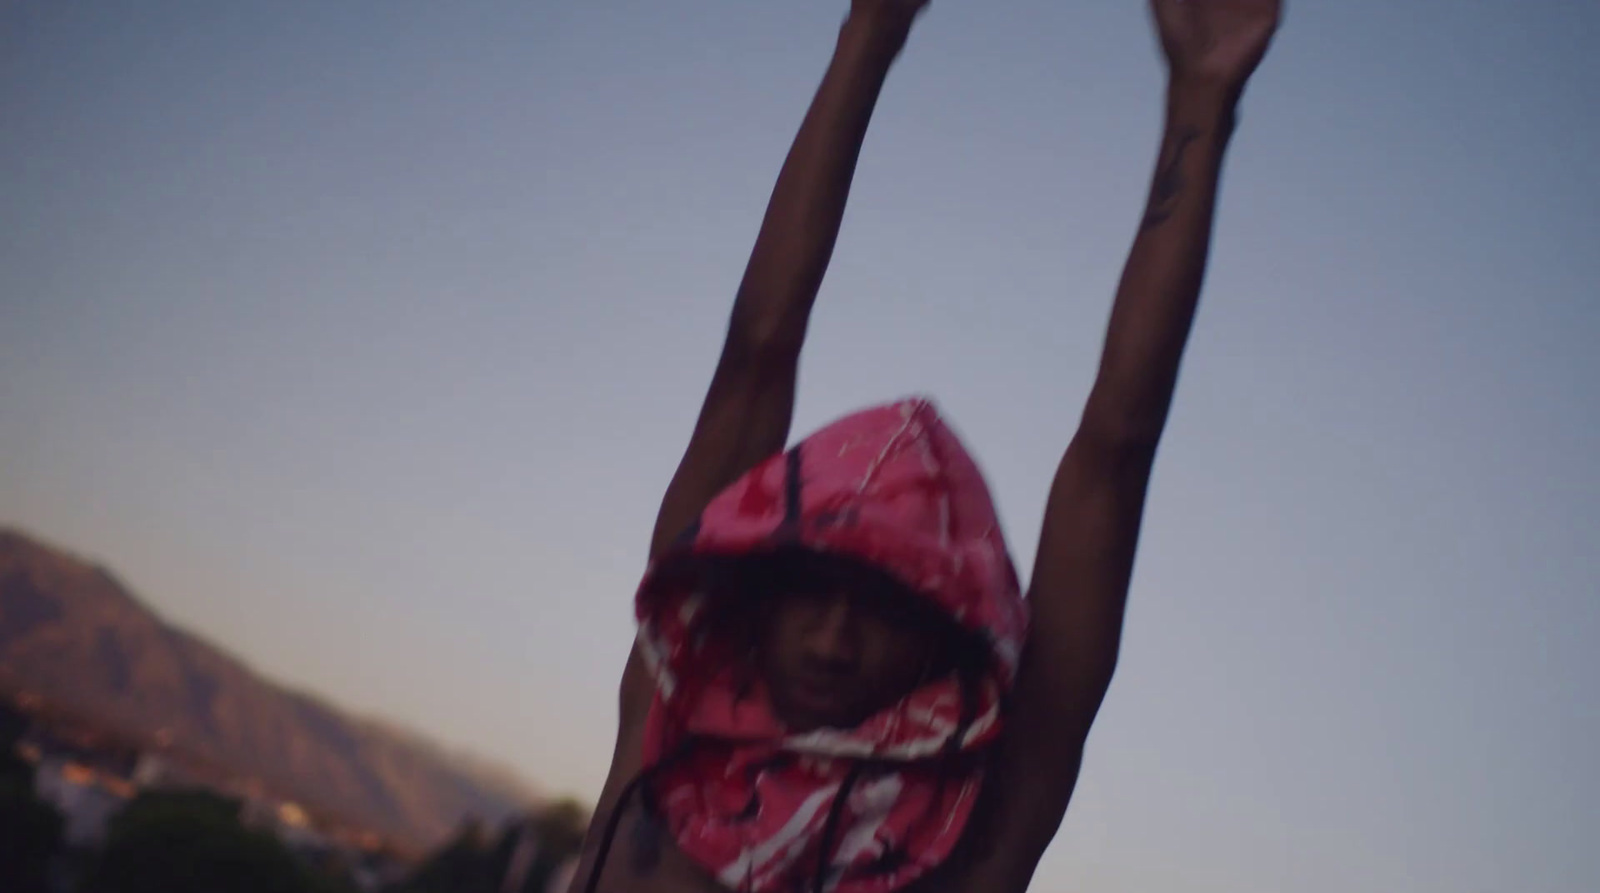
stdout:
<svg viewBox="0 0 1600 893">
<path fill-rule="evenodd" d="M 0 5 L 0 523 L 592 795 L 843 3 Z M 1038 890 L 1600 890 L 1600 5 L 1291 3 Z M 797 434 L 933 394 L 1019 565 L 1160 123 L 1136 0 L 938 0 Z"/>
</svg>

